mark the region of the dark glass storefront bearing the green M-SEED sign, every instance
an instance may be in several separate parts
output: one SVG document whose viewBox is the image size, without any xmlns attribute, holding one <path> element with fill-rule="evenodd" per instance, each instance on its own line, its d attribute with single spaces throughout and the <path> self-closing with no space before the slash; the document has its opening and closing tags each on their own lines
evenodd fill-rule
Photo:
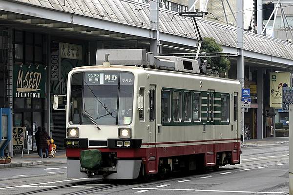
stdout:
<svg viewBox="0 0 293 195">
<path fill-rule="evenodd" d="M 43 35 L 13 30 L 13 126 L 26 127 L 36 151 L 35 132 L 45 125 L 46 68 Z"/>
</svg>

